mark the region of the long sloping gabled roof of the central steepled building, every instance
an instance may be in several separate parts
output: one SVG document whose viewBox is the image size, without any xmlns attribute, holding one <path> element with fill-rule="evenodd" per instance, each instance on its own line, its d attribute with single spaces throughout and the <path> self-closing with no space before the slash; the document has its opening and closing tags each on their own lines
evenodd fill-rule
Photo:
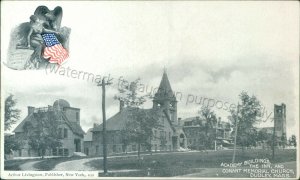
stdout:
<svg viewBox="0 0 300 180">
<path fill-rule="evenodd" d="M 107 131 L 118 131 L 122 130 L 126 127 L 126 123 L 130 121 L 130 116 L 136 110 L 137 108 L 124 108 L 122 111 L 118 112 L 108 120 L 106 120 L 106 130 Z M 150 116 L 154 118 L 158 118 L 160 115 L 165 115 L 162 110 L 154 110 L 154 109 L 139 109 L 141 111 L 144 111 L 145 113 L 149 114 Z M 173 128 L 172 123 L 167 117 L 168 122 L 170 123 L 170 126 Z M 100 124 L 93 128 L 93 132 L 96 131 L 102 131 L 103 130 L 103 124 Z"/>
</svg>

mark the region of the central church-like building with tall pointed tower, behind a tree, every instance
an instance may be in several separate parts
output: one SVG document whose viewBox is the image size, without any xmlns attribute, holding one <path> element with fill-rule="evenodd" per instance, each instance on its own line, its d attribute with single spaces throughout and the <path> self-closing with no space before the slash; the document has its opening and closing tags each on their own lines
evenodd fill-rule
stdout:
<svg viewBox="0 0 300 180">
<path fill-rule="evenodd" d="M 159 88 L 153 98 L 153 106 L 150 109 L 141 109 L 144 113 L 157 113 L 156 118 L 161 125 L 154 128 L 153 138 L 149 137 L 151 151 L 176 151 L 187 147 L 186 136 L 177 119 L 177 100 L 172 91 L 167 73 L 164 72 Z M 120 104 L 120 110 L 106 122 L 107 151 L 109 154 L 137 151 L 137 144 L 124 145 L 121 131 L 130 121 L 130 108 Z M 84 152 L 87 155 L 101 155 L 103 153 L 102 124 L 94 125 L 89 130 L 90 138 L 84 142 Z M 141 147 L 146 151 L 146 147 Z"/>
</svg>

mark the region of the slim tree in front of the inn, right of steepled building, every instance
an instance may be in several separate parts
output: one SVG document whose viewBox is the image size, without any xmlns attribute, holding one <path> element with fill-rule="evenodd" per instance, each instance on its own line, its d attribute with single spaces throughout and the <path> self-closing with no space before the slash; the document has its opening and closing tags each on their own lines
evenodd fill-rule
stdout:
<svg viewBox="0 0 300 180">
<path fill-rule="evenodd" d="M 205 120 L 205 125 L 204 125 L 204 131 L 205 131 L 205 139 L 204 139 L 204 144 L 205 148 L 212 149 L 213 148 L 213 142 L 216 138 L 216 130 L 214 127 L 217 124 L 217 116 L 212 111 L 211 109 L 203 106 L 201 110 L 199 111 L 200 118 L 199 121 Z M 201 123 L 201 122 L 198 122 Z"/>
</svg>

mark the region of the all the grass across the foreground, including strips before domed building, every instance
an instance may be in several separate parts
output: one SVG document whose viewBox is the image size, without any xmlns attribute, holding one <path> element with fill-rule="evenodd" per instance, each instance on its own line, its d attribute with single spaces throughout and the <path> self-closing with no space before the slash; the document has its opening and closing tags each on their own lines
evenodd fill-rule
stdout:
<svg viewBox="0 0 300 180">
<path fill-rule="evenodd" d="M 129 177 L 172 177 L 182 176 L 192 173 L 207 174 L 207 170 L 212 173 L 220 170 L 221 163 L 231 163 L 232 150 L 224 151 L 203 151 L 203 152 L 176 152 L 176 153 L 153 153 L 153 155 L 142 154 L 138 160 L 136 156 L 118 157 L 108 159 L 109 176 L 129 176 Z M 41 171 L 51 171 L 57 164 L 83 159 L 86 157 L 60 157 L 52 159 L 30 159 L 30 160 L 9 160 L 4 162 L 5 170 L 21 170 L 20 165 L 31 162 L 40 161 L 34 164 L 34 168 Z M 89 157 L 90 158 L 90 157 Z M 270 150 L 238 150 L 235 162 L 243 162 L 251 159 L 268 158 L 272 164 L 295 162 L 296 150 L 276 150 L 275 158 L 272 159 L 272 151 Z M 94 167 L 99 171 L 103 170 L 102 160 L 91 160 L 86 163 L 87 166 Z M 294 167 L 294 165 L 292 165 Z M 210 177 L 212 174 L 208 174 Z M 199 176 L 200 176 L 199 175 Z"/>
</svg>

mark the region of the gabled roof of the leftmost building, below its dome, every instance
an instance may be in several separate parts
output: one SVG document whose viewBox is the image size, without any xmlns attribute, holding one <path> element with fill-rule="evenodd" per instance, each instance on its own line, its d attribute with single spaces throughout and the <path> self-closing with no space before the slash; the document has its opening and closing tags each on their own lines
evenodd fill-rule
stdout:
<svg viewBox="0 0 300 180">
<path fill-rule="evenodd" d="M 50 113 L 51 111 L 47 111 L 47 112 L 42 112 L 42 113 Z M 53 111 L 52 111 L 53 112 Z M 77 124 L 76 122 L 71 122 L 70 120 L 68 120 L 68 118 L 64 115 L 63 112 L 61 111 L 55 111 L 56 113 L 54 113 L 55 115 L 55 119 L 62 119 L 63 122 L 65 122 L 71 129 L 71 131 L 74 134 L 77 134 L 79 136 L 83 136 L 85 134 L 85 132 L 82 130 L 81 126 L 79 124 Z M 31 122 L 31 124 L 33 125 L 33 127 L 37 126 L 37 119 L 34 116 L 34 113 L 29 114 L 15 129 L 13 132 L 23 132 L 23 126 L 26 122 Z"/>
</svg>

